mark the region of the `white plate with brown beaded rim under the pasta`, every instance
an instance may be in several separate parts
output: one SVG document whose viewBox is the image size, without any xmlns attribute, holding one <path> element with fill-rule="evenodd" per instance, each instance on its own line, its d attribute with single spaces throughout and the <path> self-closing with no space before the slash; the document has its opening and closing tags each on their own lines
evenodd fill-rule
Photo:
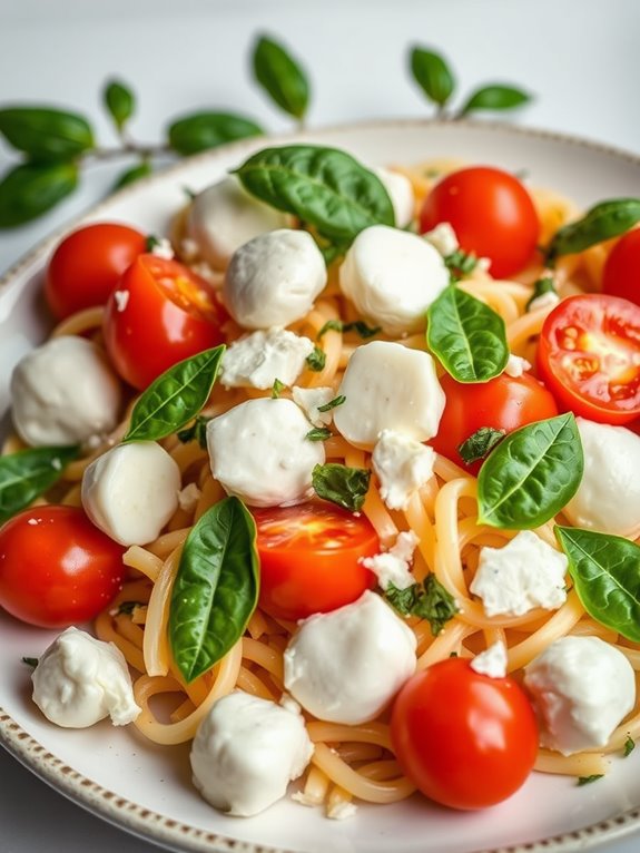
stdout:
<svg viewBox="0 0 640 853">
<path fill-rule="evenodd" d="M 640 196 L 640 158 L 504 125 L 392 122 L 314 131 L 296 139 L 342 147 L 370 164 L 445 156 L 525 170 L 532 184 L 553 187 L 581 205 Z M 86 220 L 120 219 L 165 233 L 184 204 L 185 187 L 206 186 L 264 145 L 250 140 L 184 161 L 120 192 Z M 0 281 L 0 419 L 8 406 L 12 365 L 45 333 L 41 271 L 55 243 L 38 247 Z M 107 723 L 79 732 L 48 724 L 30 702 L 29 671 L 21 657 L 37 657 L 53 635 L 0 615 L 0 636 L 2 744 L 95 814 L 171 850 L 568 853 L 640 830 L 640 749 L 617 759 L 607 778 L 583 787 L 573 780 L 533 774 L 511 800 L 479 813 L 451 812 L 416 796 L 393 806 L 361 806 L 345 822 L 328 821 L 318 810 L 289 801 L 250 820 L 225 817 L 193 788 L 186 747 L 158 747 L 132 727 L 115 729 Z"/>
</svg>

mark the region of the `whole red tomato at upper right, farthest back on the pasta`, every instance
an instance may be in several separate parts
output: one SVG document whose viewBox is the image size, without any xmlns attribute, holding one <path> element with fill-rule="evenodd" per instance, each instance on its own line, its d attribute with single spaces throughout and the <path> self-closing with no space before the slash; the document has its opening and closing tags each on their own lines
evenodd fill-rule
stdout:
<svg viewBox="0 0 640 853">
<path fill-rule="evenodd" d="M 518 273 L 531 261 L 540 220 L 524 186 L 508 171 L 474 166 L 444 177 L 424 200 L 422 233 L 452 225 L 461 247 L 491 261 L 495 278 Z"/>
</svg>

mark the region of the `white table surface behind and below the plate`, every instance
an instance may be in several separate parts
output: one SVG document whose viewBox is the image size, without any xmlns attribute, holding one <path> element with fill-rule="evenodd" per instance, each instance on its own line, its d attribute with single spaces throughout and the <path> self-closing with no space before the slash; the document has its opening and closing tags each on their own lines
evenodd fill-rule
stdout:
<svg viewBox="0 0 640 853">
<path fill-rule="evenodd" d="M 431 115 L 407 72 L 408 46 L 420 43 L 449 57 L 461 96 L 483 81 L 519 84 L 535 95 L 520 124 L 640 153 L 638 0 L 0 0 L 0 106 L 82 111 L 114 144 L 100 90 L 118 76 L 137 92 L 131 131 L 144 140 L 159 140 L 169 118 L 207 107 L 286 130 L 291 121 L 250 79 L 258 32 L 304 61 L 312 127 Z M 12 157 L 0 143 L 0 170 Z M 0 232 L 0 274 L 100 199 L 118 173 L 95 168 L 55 212 Z M 157 850 L 67 802 L 0 749 L 2 853 L 85 853 L 88 845 L 91 853 Z M 599 847 L 639 849 L 640 835 Z"/>
</svg>

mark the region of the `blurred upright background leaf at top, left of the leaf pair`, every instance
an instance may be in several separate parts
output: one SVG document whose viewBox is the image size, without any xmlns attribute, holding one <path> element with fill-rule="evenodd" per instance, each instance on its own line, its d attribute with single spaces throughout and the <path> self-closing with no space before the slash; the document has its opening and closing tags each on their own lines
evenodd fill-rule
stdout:
<svg viewBox="0 0 640 853">
<path fill-rule="evenodd" d="M 254 49 L 254 77 L 280 109 L 294 118 L 304 118 L 309 100 L 309 85 L 301 66 L 282 45 L 263 36 Z"/>
</svg>

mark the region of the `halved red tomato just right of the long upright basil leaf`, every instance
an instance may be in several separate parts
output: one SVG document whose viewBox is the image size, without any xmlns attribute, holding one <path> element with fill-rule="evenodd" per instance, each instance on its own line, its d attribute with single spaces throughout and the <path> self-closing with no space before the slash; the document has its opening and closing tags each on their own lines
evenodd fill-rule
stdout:
<svg viewBox="0 0 640 853">
<path fill-rule="evenodd" d="M 259 606 L 279 619 L 304 619 L 355 601 L 375 586 L 361 562 L 380 552 L 365 516 L 299 503 L 252 510 L 258 530 Z"/>
</svg>

